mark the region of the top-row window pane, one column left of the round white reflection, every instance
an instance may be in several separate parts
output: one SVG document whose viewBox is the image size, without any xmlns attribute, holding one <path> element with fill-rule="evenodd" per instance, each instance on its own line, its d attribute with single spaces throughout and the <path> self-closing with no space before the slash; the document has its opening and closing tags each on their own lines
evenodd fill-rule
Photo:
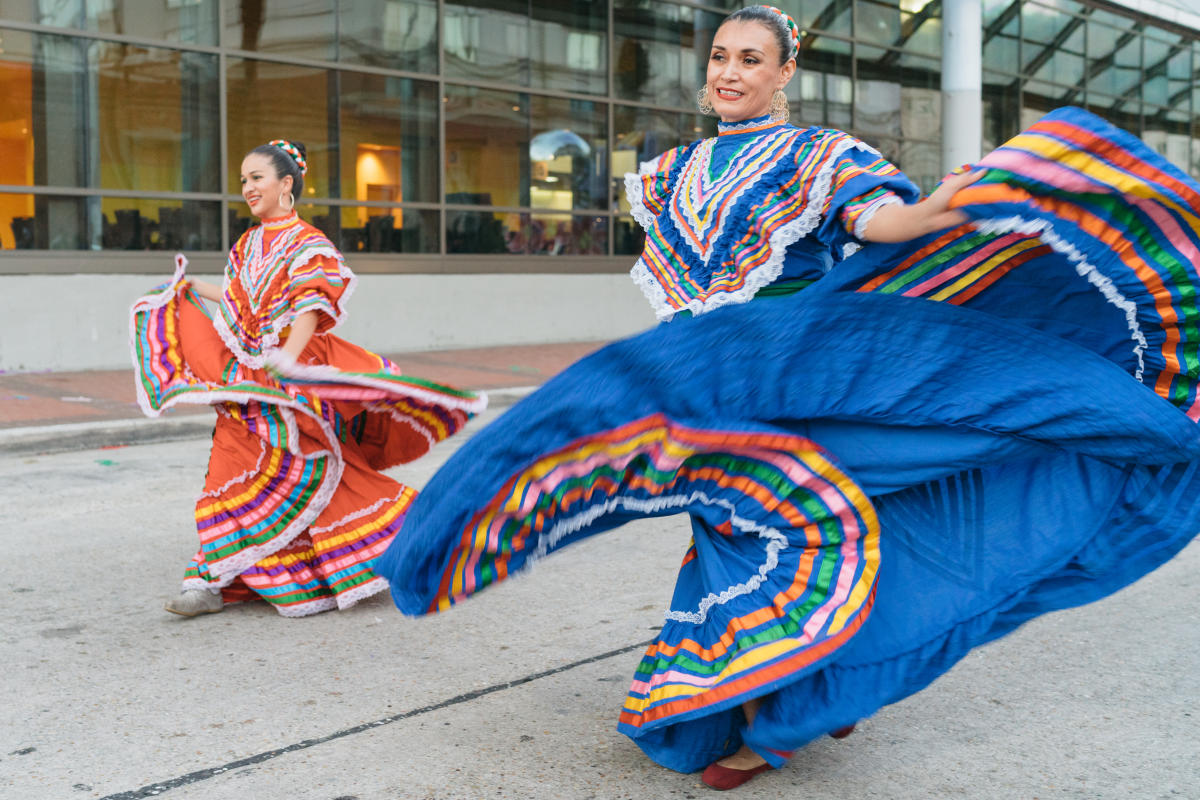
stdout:
<svg viewBox="0 0 1200 800">
<path fill-rule="evenodd" d="M 529 84 L 529 4 L 474 0 L 445 4 L 446 74 Z"/>
</svg>

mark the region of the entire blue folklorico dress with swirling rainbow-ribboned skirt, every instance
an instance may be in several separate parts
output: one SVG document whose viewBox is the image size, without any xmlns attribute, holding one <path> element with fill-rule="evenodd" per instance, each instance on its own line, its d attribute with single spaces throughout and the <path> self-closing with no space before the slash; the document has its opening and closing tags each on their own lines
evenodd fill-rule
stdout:
<svg viewBox="0 0 1200 800">
<path fill-rule="evenodd" d="M 691 515 L 619 718 L 691 771 L 779 765 L 1170 559 L 1200 530 L 1200 186 L 1080 109 L 979 167 L 970 223 L 862 246 L 918 192 L 845 133 L 756 120 L 643 164 L 634 277 L 674 321 L 455 453 L 377 561 L 400 608 Z"/>
</svg>

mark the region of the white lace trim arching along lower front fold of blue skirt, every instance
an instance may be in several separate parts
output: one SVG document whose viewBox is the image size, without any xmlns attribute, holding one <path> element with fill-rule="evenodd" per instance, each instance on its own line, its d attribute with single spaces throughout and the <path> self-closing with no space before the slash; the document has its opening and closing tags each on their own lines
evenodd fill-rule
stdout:
<svg viewBox="0 0 1200 800">
<path fill-rule="evenodd" d="M 697 501 L 704 505 L 715 505 L 726 509 L 730 512 L 731 524 L 736 525 L 739 530 L 754 533 L 762 539 L 769 540 L 767 542 L 766 558 L 763 563 L 760 564 L 755 573 L 744 582 L 736 583 L 719 594 L 709 593 L 700 601 L 696 610 L 685 612 L 668 609 L 666 612 L 666 619 L 668 620 L 700 625 L 708 619 L 708 612 L 713 608 L 713 606 L 725 604 L 732 599 L 752 593 L 762 585 L 762 582 L 767 579 L 767 576 L 779 566 L 779 552 L 787 548 L 787 537 L 779 530 L 766 525 L 758 525 L 752 521 L 738 517 L 734 513 L 733 504 L 728 500 L 710 498 L 703 492 L 662 495 L 649 499 L 614 497 L 608 498 L 599 505 L 589 506 L 574 517 L 558 519 L 550 530 L 542 531 L 538 535 L 538 547 L 526 560 L 526 564 L 522 566 L 522 571 L 532 569 L 534 564 L 545 558 L 550 551 L 563 540 L 563 537 L 587 528 L 600 517 L 604 517 L 618 509 L 625 509 L 635 513 L 644 515 L 658 513 L 668 509 L 685 509 Z"/>
</svg>

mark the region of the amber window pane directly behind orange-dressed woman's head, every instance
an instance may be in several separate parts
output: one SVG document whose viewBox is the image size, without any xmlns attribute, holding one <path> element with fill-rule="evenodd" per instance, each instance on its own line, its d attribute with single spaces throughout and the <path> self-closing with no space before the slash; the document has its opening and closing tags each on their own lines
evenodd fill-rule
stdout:
<svg viewBox="0 0 1200 800">
<path fill-rule="evenodd" d="M 328 108 L 336 73 L 251 59 L 229 59 L 228 65 L 230 191 L 240 191 L 242 156 L 271 139 L 288 139 L 307 151 L 305 196 L 329 197 L 336 176 L 330 174 Z"/>
</svg>

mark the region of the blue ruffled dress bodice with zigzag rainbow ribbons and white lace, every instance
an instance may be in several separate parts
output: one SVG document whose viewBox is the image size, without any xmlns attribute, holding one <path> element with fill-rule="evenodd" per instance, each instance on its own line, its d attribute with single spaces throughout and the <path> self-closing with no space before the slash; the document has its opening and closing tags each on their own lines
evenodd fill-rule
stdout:
<svg viewBox="0 0 1200 800">
<path fill-rule="evenodd" d="M 647 233 L 634 281 L 660 319 L 820 277 L 858 248 L 880 207 L 919 196 L 858 139 L 766 116 L 668 150 L 625 188 Z"/>
</svg>

